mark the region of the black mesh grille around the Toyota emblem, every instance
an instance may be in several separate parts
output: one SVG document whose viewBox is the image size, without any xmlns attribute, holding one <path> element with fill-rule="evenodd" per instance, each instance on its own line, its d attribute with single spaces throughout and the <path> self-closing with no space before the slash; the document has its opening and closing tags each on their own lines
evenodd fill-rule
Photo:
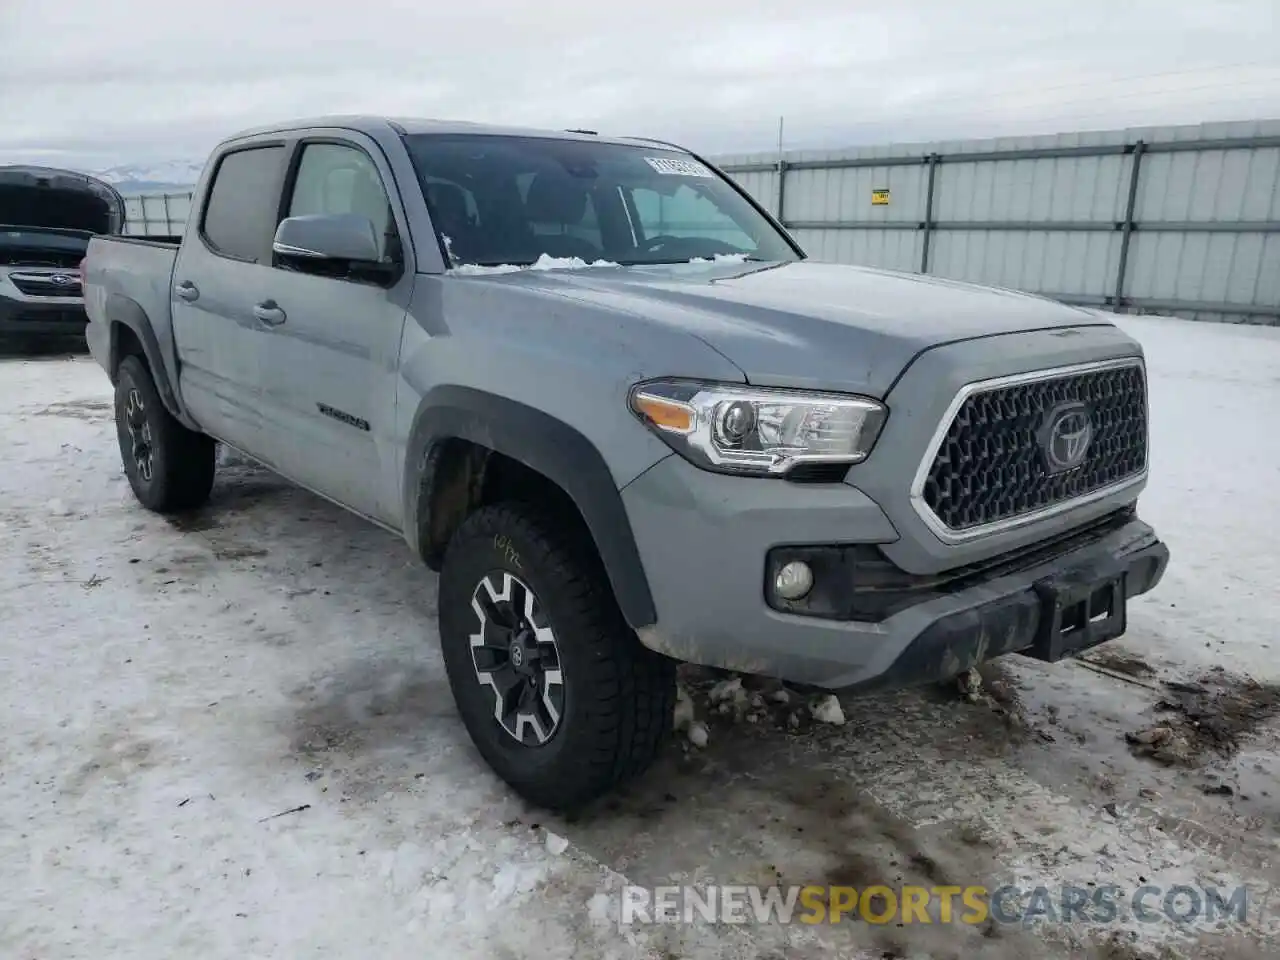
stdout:
<svg viewBox="0 0 1280 960">
<path fill-rule="evenodd" d="M 1083 460 L 1061 468 L 1046 442 L 1068 411 L 1088 416 L 1092 436 Z M 933 458 L 924 502 L 950 530 L 966 530 L 1083 497 L 1146 465 L 1142 367 L 1092 370 L 968 397 Z"/>
</svg>

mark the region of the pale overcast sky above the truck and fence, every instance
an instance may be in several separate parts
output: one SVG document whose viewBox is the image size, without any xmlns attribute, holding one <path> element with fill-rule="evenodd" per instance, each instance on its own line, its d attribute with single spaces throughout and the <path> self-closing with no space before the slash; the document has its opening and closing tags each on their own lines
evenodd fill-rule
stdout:
<svg viewBox="0 0 1280 960">
<path fill-rule="evenodd" d="M 0 163 L 332 113 L 717 154 L 1280 116 L 1280 0 L 0 0 Z"/>
</svg>

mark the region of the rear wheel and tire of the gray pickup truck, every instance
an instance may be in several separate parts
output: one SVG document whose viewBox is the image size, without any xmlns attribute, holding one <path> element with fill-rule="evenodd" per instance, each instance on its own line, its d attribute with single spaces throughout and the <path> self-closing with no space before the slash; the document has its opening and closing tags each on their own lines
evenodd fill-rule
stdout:
<svg viewBox="0 0 1280 960">
<path fill-rule="evenodd" d="M 156 513 L 195 509 L 214 486 L 212 438 L 188 430 L 164 408 L 140 357 L 120 361 L 115 376 L 115 435 L 138 503 Z"/>
</svg>

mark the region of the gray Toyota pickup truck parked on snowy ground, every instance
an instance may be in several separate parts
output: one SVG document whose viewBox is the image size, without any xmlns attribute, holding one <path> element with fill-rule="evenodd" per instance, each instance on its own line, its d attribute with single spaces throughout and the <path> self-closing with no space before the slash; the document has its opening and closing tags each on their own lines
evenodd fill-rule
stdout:
<svg viewBox="0 0 1280 960">
<path fill-rule="evenodd" d="M 677 662 L 872 690 L 1057 660 L 1167 564 L 1138 343 L 813 262 L 667 143 L 250 131 L 180 243 L 84 270 L 138 500 L 202 504 L 223 443 L 403 536 L 472 740 L 540 805 L 649 764 Z"/>
</svg>

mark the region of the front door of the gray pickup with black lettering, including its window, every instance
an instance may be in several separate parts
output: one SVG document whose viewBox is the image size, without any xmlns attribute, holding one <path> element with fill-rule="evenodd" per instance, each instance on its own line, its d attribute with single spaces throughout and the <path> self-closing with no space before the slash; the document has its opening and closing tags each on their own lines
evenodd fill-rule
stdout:
<svg viewBox="0 0 1280 960">
<path fill-rule="evenodd" d="M 280 216 L 366 216 L 394 269 L 370 280 L 275 261 L 262 287 L 280 317 L 264 355 L 262 416 L 284 474 L 398 527 L 396 371 L 413 265 L 388 183 L 385 157 L 361 134 L 334 131 L 297 143 Z"/>
</svg>

